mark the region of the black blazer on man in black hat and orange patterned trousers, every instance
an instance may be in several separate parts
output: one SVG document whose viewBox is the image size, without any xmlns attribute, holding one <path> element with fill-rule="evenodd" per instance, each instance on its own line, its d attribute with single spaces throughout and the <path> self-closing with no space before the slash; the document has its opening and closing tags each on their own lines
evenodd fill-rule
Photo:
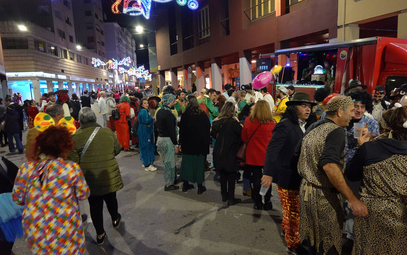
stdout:
<svg viewBox="0 0 407 255">
<path fill-rule="evenodd" d="M 295 146 L 304 137 L 300 125 L 283 119 L 273 129 L 267 146 L 263 174 L 273 177 L 273 183 L 288 190 L 299 190 L 302 177 L 297 172 Z"/>
</svg>

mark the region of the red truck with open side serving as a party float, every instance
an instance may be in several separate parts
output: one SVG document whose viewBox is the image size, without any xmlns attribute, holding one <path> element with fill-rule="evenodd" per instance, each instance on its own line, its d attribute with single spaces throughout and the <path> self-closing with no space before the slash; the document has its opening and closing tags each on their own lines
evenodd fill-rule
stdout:
<svg viewBox="0 0 407 255">
<path fill-rule="evenodd" d="M 352 41 L 342 41 L 276 50 L 275 64 L 280 59 L 290 59 L 282 63 L 291 64 L 297 69 L 294 80 L 301 80 L 302 70 L 308 67 L 310 59 L 317 60 L 317 65 L 324 67 L 324 60 L 328 59 L 333 68 L 335 78 L 334 92 L 343 92 L 348 87 L 350 79 L 359 80 L 367 85 L 367 91 L 372 93 L 374 87 L 386 87 L 386 95 L 401 85 L 407 83 L 407 39 L 389 37 L 370 37 Z M 285 56 L 282 56 L 285 55 Z M 293 60 L 294 59 L 294 60 Z M 280 63 L 281 64 L 281 63 Z M 282 84 L 287 86 L 289 84 Z M 277 84 L 276 87 L 279 85 Z M 303 91 L 313 95 L 318 85 L 299 85 L 296 92 Z M 321 86 L 322 87 L 322 86 Z"/>
</svg>

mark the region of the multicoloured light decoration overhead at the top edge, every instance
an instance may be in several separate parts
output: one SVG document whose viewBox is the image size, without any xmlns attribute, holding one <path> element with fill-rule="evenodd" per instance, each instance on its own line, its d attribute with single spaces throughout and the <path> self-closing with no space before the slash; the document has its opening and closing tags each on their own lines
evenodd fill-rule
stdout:
<svg viewBox="0 0 407 255">
<path fill-rule="evenodd" d="M 151 2 L 166 3 L 173 0 L 123 0 L 123 13 L 131 16 L 143 15 L 147 20 L 150 18 L 151 13 Z M 113 13 L 120 13 L 118 7 L 122 0 L 116 0 L 112 5 Z M 176 0 L 177 4 L 180 6 L 187 5 L 191 10 L 197 10 L 199 4 L 197 0 Z"/>
</svg>

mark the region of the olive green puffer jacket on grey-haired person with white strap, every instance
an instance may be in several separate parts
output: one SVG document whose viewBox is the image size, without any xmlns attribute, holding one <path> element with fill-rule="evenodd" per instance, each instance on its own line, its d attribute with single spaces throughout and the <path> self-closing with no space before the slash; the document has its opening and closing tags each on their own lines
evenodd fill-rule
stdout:
<svg viewBox="0 0 407 255">
<path fill-rule="evenodd" d="M 119 166 L 114 157 L 120 153 L 122 146 L 112 130 L 105 127 L 99 129 L 79 160 L 82 149 L 96 126 L 100 127 L 96 122 L 81 125 L 73 136 L 75 148 L 68 153 L 68 160 L 81 167 L 90 188 L 90 196 L 101 196 L 123 188 Z"/>
</svg>

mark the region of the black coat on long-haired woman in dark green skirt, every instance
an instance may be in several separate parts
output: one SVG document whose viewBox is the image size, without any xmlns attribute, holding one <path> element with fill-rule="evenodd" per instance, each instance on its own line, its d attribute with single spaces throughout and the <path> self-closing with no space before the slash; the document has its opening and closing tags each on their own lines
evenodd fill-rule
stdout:
<svg viewBox="0 0 407 255">
<path fill-rule="evenodd" d="M 201 111 L 199 115 L 187 110 L 182 113 L 179 122 L 179 141 L 182 154 L 208 155 L 209 154 L 210 122 L 208 115 Z"/>
</svg>

